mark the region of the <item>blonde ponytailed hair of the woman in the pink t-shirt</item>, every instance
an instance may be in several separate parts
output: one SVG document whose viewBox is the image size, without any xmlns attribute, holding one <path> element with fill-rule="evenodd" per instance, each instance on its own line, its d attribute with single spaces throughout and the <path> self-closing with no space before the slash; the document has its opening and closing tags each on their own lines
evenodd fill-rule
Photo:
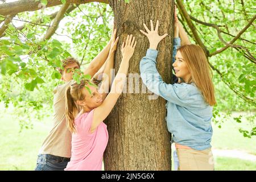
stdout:
<svg viewBox="0 0 256 182">
<path fill-rule="evenodd" d="M 76 133 L 75 117 L 79 113 L 79 106 L 76 101 L 82 101 L 85 99 L 85 94 L 82 92 L 82 88 L 85 88 L 88 80 L 81 80 L 80 84 L 74 83 L 69 86 L 65 93 L 65 117 L 67 121 L 68 129 L 72 133 Z"/>
</svg>

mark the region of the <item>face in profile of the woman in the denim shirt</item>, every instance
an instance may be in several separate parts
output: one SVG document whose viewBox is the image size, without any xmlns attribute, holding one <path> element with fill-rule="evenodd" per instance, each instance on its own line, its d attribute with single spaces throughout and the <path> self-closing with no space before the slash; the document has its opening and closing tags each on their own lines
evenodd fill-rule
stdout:
<svg viewBox="0 0 256 182">
<path fill-rule="evenodd" d="M 183 59 L 180 51 L 177 51 L 175 56 L 175 62 L 172 64 L 174 67 L 176 77 L 182 78 L 185 82 L 191 79 L 191 72 L 189 72 L 188 65 Z"/>
</svg>

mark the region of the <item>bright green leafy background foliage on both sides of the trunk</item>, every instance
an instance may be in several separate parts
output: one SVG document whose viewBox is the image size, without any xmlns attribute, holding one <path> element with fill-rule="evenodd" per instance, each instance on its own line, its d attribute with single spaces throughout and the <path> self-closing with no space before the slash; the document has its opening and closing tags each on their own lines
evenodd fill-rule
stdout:
<svg viewBox="0 0 256 182">
<path fill-rule="evenodd" d="M 187 13 L 195 18 L 192 22 L 210 54 L 226 46 L 225 43 L 250 22 L 256 7 L 255 1 L 242 0 L 185 0 L 183 3 Z M 49 15 L 59 9 L 60 6 L 56 6 L 19 13 L 0 38 L 0 101 L 6 108 L 14 106 L 13 116 L 19 120 L 21 129 L 32 127 L 31 121 L 51 115 L 52 90 L 61 84 L 56 70 L 61 67 L 61 60 L 76 57 L 83 69 L 110 38 L 114 19 L 111 7 L 86 3 L 66 13 L 55 34 L 49 40 L 42 40 L 52 22 Z M 178 15 L 192 42 L 196 43 L 184 17 L 181 13 Z M 0 16 L 0 22 L 5 19 Z M 220 34 L 209 24 L 216 25 Z M 232 111 L 247 111 L 251 129 L 240 129 L 245 137 L 256 133 L 255 37 L 253 22 L 231 47 L 209 57 L 217 97 L 213 121 L 221 127 Z M 220 117 L 220 111 L 225 112 L 226 117 Z M 240 123 L 242 117 L 245 116 L 233 119 Z"/>
</svg>

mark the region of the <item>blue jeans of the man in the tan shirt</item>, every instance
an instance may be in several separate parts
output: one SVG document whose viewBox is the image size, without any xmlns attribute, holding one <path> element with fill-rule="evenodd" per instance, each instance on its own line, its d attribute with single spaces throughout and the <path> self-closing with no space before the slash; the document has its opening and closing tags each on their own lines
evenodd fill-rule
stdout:
<svg viewBox="0 0 256 182">
<path fill-rule="evenodd" d="M 50 154 L 39 154 L 38 160 L 36 160 L 35 171 L 63 171 L 69 160 L 70 158 Z"/>
</svg>

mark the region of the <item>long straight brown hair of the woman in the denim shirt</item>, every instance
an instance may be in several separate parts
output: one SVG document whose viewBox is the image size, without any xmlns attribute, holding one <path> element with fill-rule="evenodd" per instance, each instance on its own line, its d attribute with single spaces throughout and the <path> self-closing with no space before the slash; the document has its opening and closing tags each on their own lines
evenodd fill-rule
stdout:
<svg viewBox="0 0 256 182">
<path fill-rule="evenodd" d="M 195 44 L 181 46 L 177 51 L 180 51 L 183 59 L 188 65 L 191 72 L 191 80 L 195 82 L 197 88 L 200 89 L 204 100 L 213 106 L 216 104 L 214 96 L 214 86 L 212 82 L 212 72 L 205 56 L 204 49 Z"/>
</svg>

